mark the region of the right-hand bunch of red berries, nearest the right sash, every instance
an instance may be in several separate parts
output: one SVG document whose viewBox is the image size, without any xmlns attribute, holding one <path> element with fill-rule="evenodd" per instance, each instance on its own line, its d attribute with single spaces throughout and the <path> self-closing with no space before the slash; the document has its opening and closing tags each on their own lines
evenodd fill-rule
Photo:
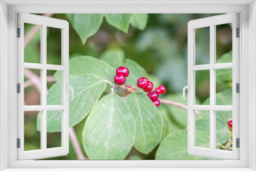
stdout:
<svg viewBox="0 0 256 171">
<path fill-rule="evenodd" d="M 147 93 L 147 96 L 153 101 L 153 103 L 156 106 L 160 105 L 160 101 L 158 100 L 158 96 L 161 93 L 165 93 L 165 87 L 164 86 L 159 86 L 156 88 L 155 91 L 153 90 L 153 83 L 151 81 L 148 81 L 146 77 L 141 77 L 137 81 L 137 87 L 143 89 L 144 92 L 149 92 Z"/>
</svg>

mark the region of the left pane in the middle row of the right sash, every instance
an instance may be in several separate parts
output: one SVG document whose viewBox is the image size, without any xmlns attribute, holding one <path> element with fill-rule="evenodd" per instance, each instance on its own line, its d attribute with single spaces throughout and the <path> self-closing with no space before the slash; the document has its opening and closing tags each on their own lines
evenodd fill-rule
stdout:
<svg viewBox="0 0 256 171">
<path fill-rule="evenodd" d="M 210 70 L 195 71 L 195 79 L 195 95 L 201 100 L 200 103 L 196 101 L 195 104 L 200 105 L 210 97 Z"/>
</svg>

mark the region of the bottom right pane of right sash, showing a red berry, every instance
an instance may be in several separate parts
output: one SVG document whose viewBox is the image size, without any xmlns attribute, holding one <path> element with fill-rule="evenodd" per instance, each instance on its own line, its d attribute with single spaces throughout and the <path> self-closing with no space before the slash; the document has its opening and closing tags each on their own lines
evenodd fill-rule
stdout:
<svg viewBox="0 0 256 171">
<path fill-rule="evenodd" d="M 232 150 L 232 112 L 216 111 L 216 149 Z"/>
</svg>

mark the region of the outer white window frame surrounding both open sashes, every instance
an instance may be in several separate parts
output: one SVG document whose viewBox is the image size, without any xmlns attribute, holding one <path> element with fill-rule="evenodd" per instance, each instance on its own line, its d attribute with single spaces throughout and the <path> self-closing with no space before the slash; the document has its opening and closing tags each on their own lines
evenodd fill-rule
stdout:
<svg viewBox="0 0 256 171">
<path fill-rule="evenodd" d="M 0 169 L 7 170 L 255 170 L 255 1 L 1 1 Z M 61 4 L 62 3 L 62 4 Z M 67 4 L 67 5 L 65 5 Z M 71 5 L 73 4 L 73 5 Z M 221 161 L 18 161 L 16 154 L 16 14 L 29 13 L 230 13 L 240 14 L 240 159 Z M 8 19 L 7 19 L 8 17 Z M 250 35 L 250 36 L 249 36 Z M 8 43 L 6 43 L 8 42 Z M 8 58 L 7 58 L 8 56 Z M 8 74 L 6 74 L 6 70 Z M 250 79 L 249 79 L 250 78 Z M 182 89 L 182 88 L 181 88 Z M 7 90 L 7 91 L 6 91 Z M 6 99 L 8 99 L 6 101 Z M 249 100 L 250 99 L 250 100 Z M 243 117 L 241 117 L 243 116 Z M 7 122 L 8 121 L 8 122 Z M 250 136 L 248 132 L 250 131 Z M 15 134 L 13 134 L 15 133 Z M 249 146 L 250 143 L 250 147 Z M 73 167 L 73 168 L 71 168 Z M 30 168 L 30 169 L 29 169 Z M 69 169 L 70 168 L 70 169 Z M 100 169 L 101 168 L 101 169 Z M 126 169 L 125 169 L 126 168 Z M 150 169 L 151 168 L 151 169 Z"/>
</svg>

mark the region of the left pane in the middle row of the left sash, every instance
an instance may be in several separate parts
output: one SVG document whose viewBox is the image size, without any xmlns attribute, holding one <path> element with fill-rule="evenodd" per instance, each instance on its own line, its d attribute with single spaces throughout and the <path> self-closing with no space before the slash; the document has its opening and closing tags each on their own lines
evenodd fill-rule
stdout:
<svg viewBox="0 0 256 171">
<path fill-rule="evenodd" d="M 41 105 L 41 70 L 24 69 L 24 105 Z"/>
</svg>

